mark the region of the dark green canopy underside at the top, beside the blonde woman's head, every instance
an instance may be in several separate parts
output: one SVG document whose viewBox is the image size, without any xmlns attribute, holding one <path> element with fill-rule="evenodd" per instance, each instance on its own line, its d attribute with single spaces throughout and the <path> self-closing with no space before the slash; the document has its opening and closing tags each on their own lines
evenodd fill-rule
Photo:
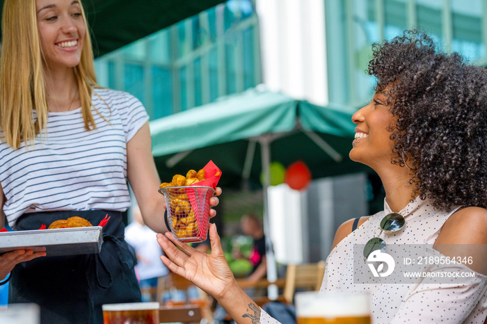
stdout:
<svg viewBox="0 0 487 324">
<path fill-rule="evenodd" d="M 225 0 L 81 0 L 81 2 L 86 9 L 90 29 L 93 31 L 95 56 L 102 56 Z M 3 0 L 0 0 L 0 10 L 3 10 Z"/>
</svg>

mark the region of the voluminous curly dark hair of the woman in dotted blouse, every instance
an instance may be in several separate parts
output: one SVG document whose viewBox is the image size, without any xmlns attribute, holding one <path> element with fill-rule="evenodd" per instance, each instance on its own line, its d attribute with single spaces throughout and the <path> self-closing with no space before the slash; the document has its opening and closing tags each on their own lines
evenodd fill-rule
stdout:
<svg viewBox="0 0 487 324">
<path fill-rule="evenodd" d="M 441 53 L 422 31 L 372 44 L 368 74 L 389 86 L 392 163 L 415 166 L 414 195 L 433 206 L 487 208 L 487 70 Z"/>
</svg>

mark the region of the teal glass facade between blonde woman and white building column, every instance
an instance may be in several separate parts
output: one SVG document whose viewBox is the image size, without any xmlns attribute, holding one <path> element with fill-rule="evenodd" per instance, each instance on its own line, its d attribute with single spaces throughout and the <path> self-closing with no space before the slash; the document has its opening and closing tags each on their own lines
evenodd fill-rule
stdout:
<svg viewBox="0 0 487 324">
<path fill-rule="evenodd" d="M 100 86 L 130 92 L 151 119 L 261 83 L 250 0 L 230 0 L 95 60 Z"/>
</svg>

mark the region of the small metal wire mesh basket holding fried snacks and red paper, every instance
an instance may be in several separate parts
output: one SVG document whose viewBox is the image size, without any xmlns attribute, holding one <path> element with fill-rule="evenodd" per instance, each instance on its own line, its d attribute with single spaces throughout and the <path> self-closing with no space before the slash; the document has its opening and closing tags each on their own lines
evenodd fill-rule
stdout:
<svg viewBox="0 0 487 324">
<path fill-rule="evenodd" d="M 160 188 L 168 210 L 168 225 L 173 237 L 185 243 L 207 239 L 209 198 L 215 194 L 208 186 Z"/>
</svg>

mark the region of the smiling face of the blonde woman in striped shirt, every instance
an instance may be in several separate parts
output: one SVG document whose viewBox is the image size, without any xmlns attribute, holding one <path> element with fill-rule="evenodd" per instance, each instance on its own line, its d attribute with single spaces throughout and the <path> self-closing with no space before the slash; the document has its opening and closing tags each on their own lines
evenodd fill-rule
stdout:
<svg viewBox="0 0 487 324">
<path fill-rule="evenodd" d="M 74 67 L 81 60 L 86 24 L 77 0 L 36 0 L 42 54 L 49 68 Z"/>
</svg>

